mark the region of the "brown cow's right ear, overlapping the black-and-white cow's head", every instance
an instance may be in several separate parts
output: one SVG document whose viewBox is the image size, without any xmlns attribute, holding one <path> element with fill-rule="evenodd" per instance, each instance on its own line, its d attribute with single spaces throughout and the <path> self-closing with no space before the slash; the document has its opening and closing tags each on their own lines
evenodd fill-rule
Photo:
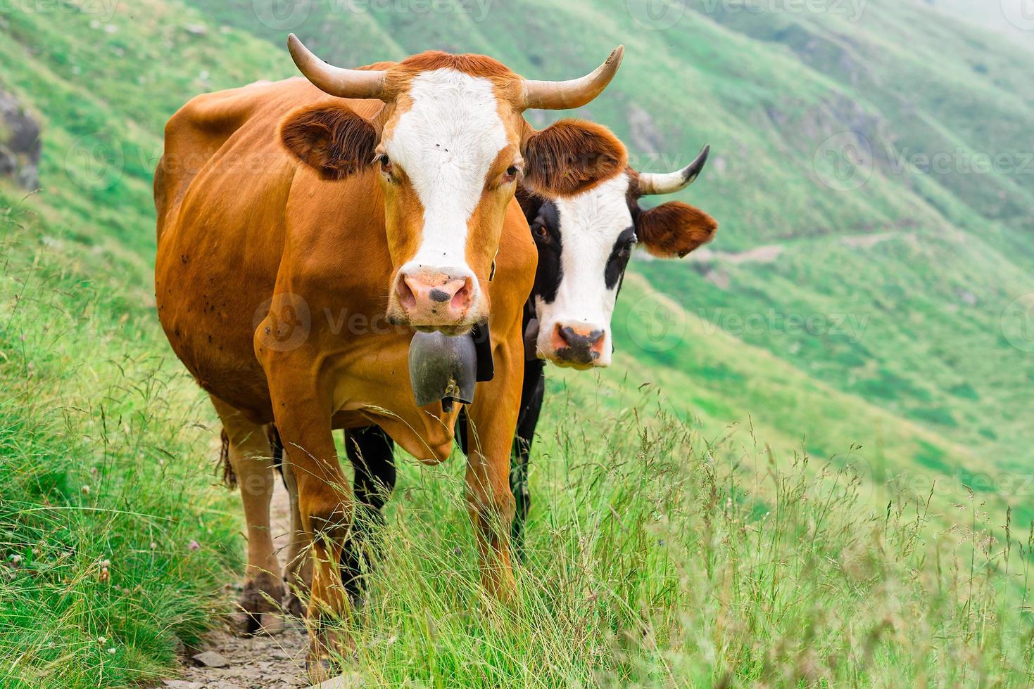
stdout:
<svg viewBox="0 0 1034 689">
<path fill-rule="evenodd" d="M 530 130 L 530 128 L 529 128 Z M 544 196 L 571 196 L 625 169 L 629 154 L 606 127 L 560 120 L 522 142 L 524 184 Z"/>
</svg>

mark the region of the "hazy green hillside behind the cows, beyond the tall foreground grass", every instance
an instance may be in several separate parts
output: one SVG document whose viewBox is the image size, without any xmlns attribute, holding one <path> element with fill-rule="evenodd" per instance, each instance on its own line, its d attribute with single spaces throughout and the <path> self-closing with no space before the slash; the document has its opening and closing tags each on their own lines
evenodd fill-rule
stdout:
<svg viewBox="0 0 1034 689">
<path fill-rule="evenodd" d="M 624 42 L 621 72 L 582 115 L 611 125 L 644 169 L 685 164 L 709 142 L 711 164 L 680 196 L 722 223 L 707 258 L 633 270 L 707 323 L 704 341 L 716 330 L 734 336 L 731 358 L 746 343 L 802 374 L 785 394 L 764 367 L 726 381 L 717 408 L 738 414 L 717 418 L 750 411 L 785 437 L 813 438 L 820 456 L 864 445 L 891 472 L 918 464 L 955 483 L 981 470 L 998 484 L 1024 481 L 1034 342 L 1015 300 L 1034 291 L 1025 67 L 1034 53 L 917 0 L 872 0 L 858 13 L 851 3 L 739 11 L 698 0 L 659 17 L 589 0 L 486 13 L 462 3 L 355 12 L 326 1 L 273 15 L 248 4 L 196 6 L 278 49 L 296 31 L 343 65 L 443 48 L 569 77 Z M 759 246 L 768 258 L 738 260 Z M 665 388 L 689 407 L 700 382 L 685 377 L 698 370 L 695 344 L 620 363 L 644 379 L 685 381 Z M 819 384 L 844 394 L 842 409 L 801 404 Z M 887 425 L 937 449 L 886 442 Z M 829 442 L 830 428 L 845 433 Z M 1028 494 L 1002 493 L 1034 515 Z"/>
</svg>

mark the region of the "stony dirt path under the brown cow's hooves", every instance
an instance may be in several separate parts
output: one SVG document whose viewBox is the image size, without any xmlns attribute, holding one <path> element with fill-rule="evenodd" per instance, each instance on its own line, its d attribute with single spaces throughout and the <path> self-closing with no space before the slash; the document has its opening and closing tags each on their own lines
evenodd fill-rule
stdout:
<svg viewBox="0 0 1034 689">
<path fill-rule="evenodd" d="M 291 506 L 280 481 L 273 495 L 273 535 L 277 550 L 286 549 L 291 529 Z M 281 557 L 282 559 L 282 557 Z M 227 630 L 210 633 L 205 645 L 193 651 L 214 652 L 225 666 L 212 667 L 187 658 L 180 677 L 163 680 L 161 686 L 173 689 L 294 689 L 308 687 L 305 672 L 307 638 L 301 621 L 287 618 L 283 632 L 275 636 L 240 637 Z M 207 656 L 215 664 L 219 658 Z"/>
</svg>

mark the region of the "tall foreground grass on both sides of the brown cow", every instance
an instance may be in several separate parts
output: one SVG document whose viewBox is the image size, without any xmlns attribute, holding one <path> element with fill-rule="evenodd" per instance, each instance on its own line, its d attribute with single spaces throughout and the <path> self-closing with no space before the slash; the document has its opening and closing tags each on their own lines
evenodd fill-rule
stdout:
<svg viewBox="0 0 1034 689">
<path fill-rule="evenodd" d="M 212 488 L 211 412 L 154 353 L 138 278 L 23 220 L 0 218 L 3 684 L 147 683 L 230 609 L 236 498 Z M 347 622 L 365 683 L 1034 682 L 1030 535 L 989 524 L 977 497 L 877 510 L 866 478 L 778 457 L 750 428 L 703 437 L 650 388 L 614 409 L 553 387 L 510 606 L 478 585 L 462 458 L 399 458 Z"/>
</svg>

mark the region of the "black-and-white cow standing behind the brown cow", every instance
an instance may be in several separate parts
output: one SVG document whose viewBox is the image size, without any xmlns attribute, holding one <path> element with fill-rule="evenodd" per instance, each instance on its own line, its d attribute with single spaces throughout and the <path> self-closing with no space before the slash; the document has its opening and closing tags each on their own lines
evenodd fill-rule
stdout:
<svg viewBox="0 0 1034 689">
<path fill-rule="evenodd" d="M 546 362 L 579 369 L 608 366 L 613 351 L 610 319 L 633 249 L 680 258 L 713 238 L 718 223 L 693 206 L 681 201 L 648 210 L 639 206 L 642 196 L 670 194 L 692 184 L 708 152 L 705 147 L 692 163 L 674 173 L 638 173 L 629 167 L 568 198 L 543 198 L 518 190 L 539 249 L 535 286 L 524 307 L 524 385 L 510 473 L 517 512 L 512 538 L 518 554 L 530 507 L 527 465 L 542 410 Z M 465 424 L 457 424 L 457 429 L 463 428 Z M 395 484 L 393 449 L 376 426 L 345 434 L 357 505 L 369 512 L 357 521 L 358 529 L 382 519 L 384 498 Z M 358 549 L 346 552 L 342 565 L 351 571 L 345 573 L 346 586 L 358 596 L 363 569 Z"/>
</svg>

